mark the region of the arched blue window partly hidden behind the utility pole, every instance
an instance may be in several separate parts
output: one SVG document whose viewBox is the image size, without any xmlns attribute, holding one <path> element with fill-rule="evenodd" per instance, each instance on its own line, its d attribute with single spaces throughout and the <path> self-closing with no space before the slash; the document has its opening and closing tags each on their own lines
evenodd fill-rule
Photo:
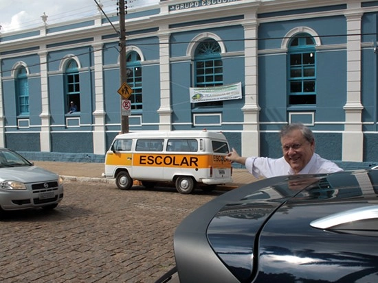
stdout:
<svg viewBox="0 0 378 283">
<path fill-rule="evenodd" d="M 126 57 L 127 84 L 133 89 L 130 96 L 131 109 L 142 109 L 142 64 L 140 55 L 136 51 L 131 51 Z"/>
</svg>

